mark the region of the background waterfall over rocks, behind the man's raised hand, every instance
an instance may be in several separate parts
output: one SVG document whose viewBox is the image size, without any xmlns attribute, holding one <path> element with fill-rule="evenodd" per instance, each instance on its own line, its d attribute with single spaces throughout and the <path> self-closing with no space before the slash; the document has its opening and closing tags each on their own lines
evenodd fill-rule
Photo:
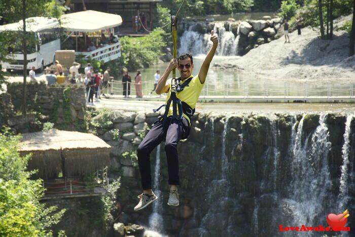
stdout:
<svg viewBox="0 0 355 237">
<path fill-rule="evenodd" d="M 237 47 L 239 43 L 239 26 L 237 36 L 231 31 L 231 23 L 227 31 L 224 22 L 216 22 L 214 26 L 215 34 L 218 34 L 219 44 L 216 55 L 235 56 L 237 55 Z M 212 42 L 209 40 L 210 32 L 200 34 L 193 31 L 194 25 L 184 31 L 180 37 L 179 53 L 191 52 L 193 55 L 207 54 Z"/>
</svg>

